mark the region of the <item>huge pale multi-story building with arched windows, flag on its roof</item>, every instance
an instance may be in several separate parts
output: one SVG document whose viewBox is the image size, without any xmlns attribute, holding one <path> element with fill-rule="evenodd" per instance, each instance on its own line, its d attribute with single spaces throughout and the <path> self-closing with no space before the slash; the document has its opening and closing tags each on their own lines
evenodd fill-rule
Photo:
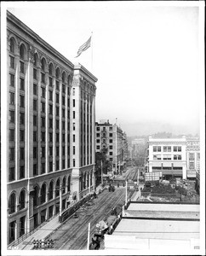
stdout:
<svg viewBox="0 0 206 256">
<path fill-rule="evenodd" d="M 95 83 L 7 14 L 8 243 L 94 189 Z"/>
</svg>

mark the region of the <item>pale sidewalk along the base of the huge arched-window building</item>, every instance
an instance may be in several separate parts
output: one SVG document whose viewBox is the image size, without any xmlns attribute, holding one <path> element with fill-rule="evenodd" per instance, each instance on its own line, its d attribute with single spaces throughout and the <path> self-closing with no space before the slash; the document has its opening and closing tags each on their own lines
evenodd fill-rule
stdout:
<svg viewBox="0 0 206 256">
<path fill-rule="evenodd" d="M 103 190 L 101 185 L 96 188 L 96 194 L 99 194 L 100 189 Z M 27 237 L 24 241 L 20 242 L 20 244 L 17 246 L 18 250 L 31 250 L 33 247 L 32 241 L 34 239 L 45 239 L 50 233 L 60 227 L 60 225 L 61 223 L 59 222 L 59 215 L 57 215 L 55 218 L 50 220 L 49 223 L 43 225 L 42 228 L 37 230 L 31 236 Z"/>
</svg>

